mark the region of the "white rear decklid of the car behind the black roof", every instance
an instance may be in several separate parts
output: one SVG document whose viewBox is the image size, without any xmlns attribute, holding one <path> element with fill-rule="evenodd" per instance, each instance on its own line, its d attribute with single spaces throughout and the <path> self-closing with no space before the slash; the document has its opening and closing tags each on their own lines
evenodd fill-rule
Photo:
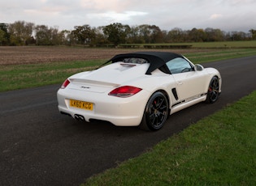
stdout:
<svg viewBox="0 0 256 186">
<path fill-rule="evenodd" d="M 149 64 L 147 63 L 116 62 L 98 70 L 72 75 L 72 77 L 68 78 L 71 82 L 68 88 L 103 93 L 110 91 L 113 87 L 119 87 L 124 83 L 129 83 L 141 76 L 145 76 L 145 71 L 148 67 Z"/>
</svg>

